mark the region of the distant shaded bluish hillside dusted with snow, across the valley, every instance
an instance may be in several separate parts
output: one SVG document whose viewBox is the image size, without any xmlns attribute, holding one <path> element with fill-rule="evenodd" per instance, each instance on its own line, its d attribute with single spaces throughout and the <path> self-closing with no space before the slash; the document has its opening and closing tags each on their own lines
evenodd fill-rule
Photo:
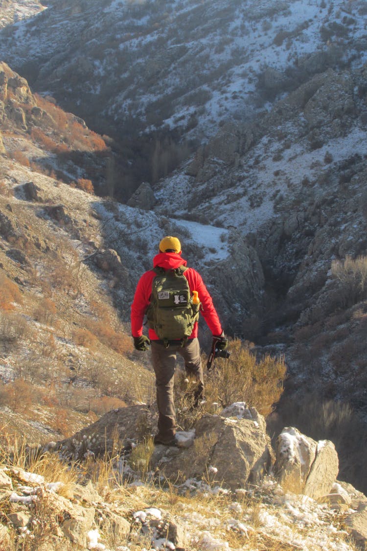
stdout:
<svg viewBox="0 0 367 551">
<path fill-rule="evenodd" d="M 0 33 L 0 58 L 118 139 L 136 188 L 218 125 L 253 120 L 328 68 L 361 66 L 364 15 L 344 0 L 55 2 Z"/>
</svg>

